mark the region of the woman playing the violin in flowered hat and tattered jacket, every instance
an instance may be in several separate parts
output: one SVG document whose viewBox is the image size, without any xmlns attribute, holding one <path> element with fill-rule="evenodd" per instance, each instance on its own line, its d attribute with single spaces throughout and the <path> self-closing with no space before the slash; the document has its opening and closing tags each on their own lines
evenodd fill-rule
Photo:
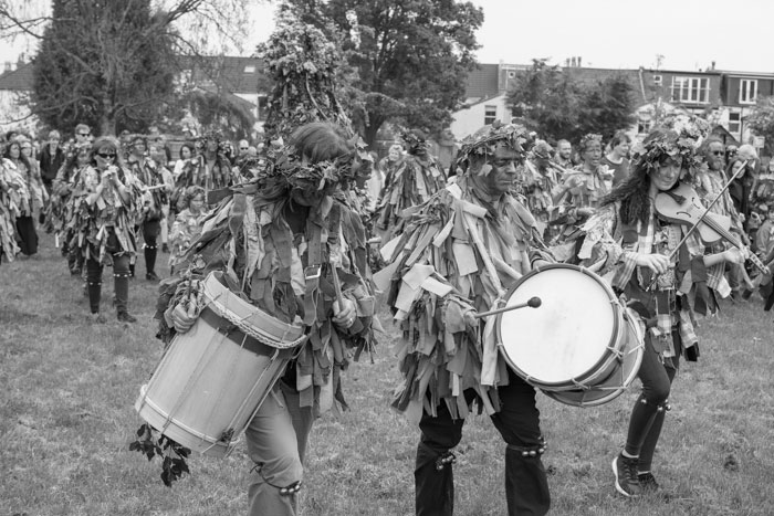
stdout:
<svg viewBox="0 0 774 516">
<path fill-rule="evenodd" d="M 630 176 L 602 201 L 584 225 L 578 253 L 582 263 L 611 277 L 613 287 L 636 312 L 645 331 L 645 354 L 638 377 L 642 391 L 631 411 L 626 446 L 613 460 L 615 487 L 624 496 L 658 489 L 651 473 L 653 451 L 661 432 L 669 391 L 680 356 L 695 360 L 698 339 L 693 310 L 712 306 L 703 283 L 708 266 L 740 263 L 736 248 L 707 253 L 695 231 L 656 212 L 656 198 L 680 181 L 690 182 L 695 159 L 697 130 L 656 129 L 635 156 Z"/>
</svg>

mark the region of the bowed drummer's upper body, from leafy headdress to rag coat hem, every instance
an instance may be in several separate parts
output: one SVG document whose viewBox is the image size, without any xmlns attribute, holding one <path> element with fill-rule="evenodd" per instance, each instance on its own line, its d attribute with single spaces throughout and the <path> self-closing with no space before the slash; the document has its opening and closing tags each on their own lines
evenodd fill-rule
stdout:
<svg viewBox="0 0 774 516">
<path fill-rule="evenodd" d="M 302 406 L 320 411 L 328 408 L 320 392 L 331 380 L 344 404 L 338 372 L 353 354 L 357 359 L 375 344 L 374 297 L 360 249 L 365 239 L 355 238 L 358 218 L 334 196 L 359 166 L 357 146 L 341 127 L 312 123 L 297 128 L 289 145 L 272 150 L 252 171 L 252 182 L 211 192 L 210 200 L 221 198 L 220 203 L 180 264 L 189 266 L 192 278 L 222 271 L 229 289 L 284 323 L 306 327 L 308 341 L 287 373 Z M 344 297 L 335 306 L 334 268 Z M 163 334 L 172 334 L 170 307 L 188 292 L 186 281 L 178 283 L 167 286 L 166 304 L 160 301 Z M 342 306 L 352 313 L 348 320 L 339 319 Z"/>
</svg>

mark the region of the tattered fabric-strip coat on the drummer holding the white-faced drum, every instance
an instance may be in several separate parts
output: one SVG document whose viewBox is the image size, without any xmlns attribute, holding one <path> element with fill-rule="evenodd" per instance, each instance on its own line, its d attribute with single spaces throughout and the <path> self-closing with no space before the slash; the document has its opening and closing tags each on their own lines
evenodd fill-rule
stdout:
<svg viewBox="0 0 774 516">
<path fill-rule="evenodd" d="M 508 371 L 494 320 L 470 328 L 464 314 L 493 307 L 535 259 L 553 261 L 533 217 L 512 196 L 496 206 L 475 198 L 462 177 L 418 207 L 383 254 L 390 265 L 375 280 L 389 284 L 387 302 L 404 336 L 396 351 L 405 383 L 394 407 L 418 421 L 422 406 L 435 415 L 444 401 L 464 418 L 463 391 L 472 388 L 488 413 L 499 410 L 493 387 L 508 383 Z"/>
</svg>

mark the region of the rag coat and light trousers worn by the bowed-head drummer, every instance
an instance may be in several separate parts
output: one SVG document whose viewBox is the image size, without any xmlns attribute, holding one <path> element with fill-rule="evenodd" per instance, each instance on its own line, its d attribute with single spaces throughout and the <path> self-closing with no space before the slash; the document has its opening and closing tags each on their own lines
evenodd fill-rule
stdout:
<svg viewBox="0 0 774 516">
<path fill-rule="evenodd" d="M 316 207 L 305 207 L 286 194 L 264 197 L 269 190 L 255 183 L 233 187 L 233 194 L 205 221 L 187 257 L 205 264 L 194 267 L 195 274 L 223 271 L 232 292 L 306 328 L 307 340 L 245 431 L 248 453 L 255 463 L 249 514 L 282 516 L 295 514 L 295 496 L 282 496 L 280 489 L 302 480 L 314 419 L 335 400 L 346 408 L 341 373 L 353 356 L 357 359 L 374 344 L 374 297 L 365 281 L 359 217 L 331 196 Z M 333 267 L 343 295 L 357 307 L 348 329 L 331 319 L 336 297 Z M 163 288 L 167 292 L 159 306 L 165 309 L 175 304 L 172 291 L 186 288 L 186 282 Z M 161 331 L 172 330 L 163 322 Z"/>
</svg>

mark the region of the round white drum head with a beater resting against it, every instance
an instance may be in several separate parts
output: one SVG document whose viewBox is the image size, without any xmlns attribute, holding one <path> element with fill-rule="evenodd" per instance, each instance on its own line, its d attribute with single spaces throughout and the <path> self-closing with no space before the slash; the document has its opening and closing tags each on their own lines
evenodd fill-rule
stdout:
<svg viewBox="0 0 774 516">
<path fill-rule="evenodd" d="M 522 277 L 508 305 L 541 298 L 537 308 L 499 315 L 501 350 L 516 373 L 538 387 L 573 385 L 593 371 L 617 337 L 620 308 L 596 275 L 550 265 Z"/>
</svg>

